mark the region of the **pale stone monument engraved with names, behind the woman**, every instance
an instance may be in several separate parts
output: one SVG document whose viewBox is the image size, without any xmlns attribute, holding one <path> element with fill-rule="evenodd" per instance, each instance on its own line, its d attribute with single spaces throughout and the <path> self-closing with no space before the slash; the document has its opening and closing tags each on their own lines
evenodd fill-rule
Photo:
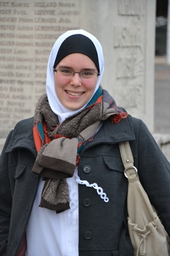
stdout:
<svg viewBox="0 0 170 256">
<path fill-rule="evenodd" d="M 154 131 L 155 0 L 8 0 L 0 2 L 0 140 L 34 115 L 45 93 L 49 53 L 67 30 L 101 42 L 102 86 L 117 105 Z"/>
</svg>

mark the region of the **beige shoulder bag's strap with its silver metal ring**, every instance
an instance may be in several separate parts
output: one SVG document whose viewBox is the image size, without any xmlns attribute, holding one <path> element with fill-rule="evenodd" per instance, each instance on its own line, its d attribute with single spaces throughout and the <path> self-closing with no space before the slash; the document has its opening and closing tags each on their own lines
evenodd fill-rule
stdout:
<svg viewBox="0 0 170 256">
<path fill-rule="evenodd" d="M 128 141 L 120 142 L 119 149 L 121 152 L 123 165 L 125 166 L 124 174 L 125 174 L 126 178 L 128 178 L 127 174 L 126 174 L 127 170 L 133 170 L 132 173 L 134 173 L 134 170 L 135 170 L 135 174 L 137 176 L 138 170 L 136 169 L 136 167 L 134 167 L 134 158 L 132 155 L 132 151 L 131 151 L 129 142 Z"/>
</svg>

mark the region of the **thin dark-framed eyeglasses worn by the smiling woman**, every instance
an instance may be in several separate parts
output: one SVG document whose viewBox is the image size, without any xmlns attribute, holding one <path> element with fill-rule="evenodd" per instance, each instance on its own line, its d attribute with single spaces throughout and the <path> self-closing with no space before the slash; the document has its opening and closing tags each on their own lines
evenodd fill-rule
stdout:
<svg viewBox="0 0 170 256">
<path fill-rule="evenodd" d="M 74 77 L 75 73 L 80 74 L 80 78 L 83 81 L 93 81 L 98 77 L 99 73 L 95 71 L 81 71 L 81 72 L 75 72 L 70 69 L 55 69 L 53 68 L 53 71 L 56 72 L 60 77 L 62 78 L 67 78 L 67 79 L 72 79 Z"/>
</svg>

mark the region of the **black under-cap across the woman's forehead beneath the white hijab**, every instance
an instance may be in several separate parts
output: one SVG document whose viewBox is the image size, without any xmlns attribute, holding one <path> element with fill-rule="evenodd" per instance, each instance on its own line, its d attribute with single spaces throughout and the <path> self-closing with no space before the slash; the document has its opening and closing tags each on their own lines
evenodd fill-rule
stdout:
<svg viewBox="0 0 170 256">
<path fill-rule="evenodd" d="M 99 72 L 99 62 L 96 47 L 94 46 L 92 40 L 81 34 L 71 35 L 70 37 L 66 38 L 63 43 L 61 43 L 53 67 L 56 67 L 61 59 L 64 59 L 67 55 L 72 53 L 83 53 L 87 55 L 95 63 Z"/>
</svg>

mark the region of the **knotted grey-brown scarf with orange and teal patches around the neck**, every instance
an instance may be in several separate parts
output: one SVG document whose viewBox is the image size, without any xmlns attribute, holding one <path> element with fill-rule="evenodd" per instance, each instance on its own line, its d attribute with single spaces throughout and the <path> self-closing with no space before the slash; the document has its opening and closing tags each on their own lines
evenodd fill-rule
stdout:
<svg viewBox="0 0 170 256">
<path fill-rule="evenodd" d="M 74 174 L 80 159 L 78 153 L 96 133 L 102 121 L 110 118 L 118 123 L 127 113 L 118 110 L 106 90 L 98 88 L 88 105 L 65 119 L 61 125 L 51 110 L 46 94 L 35 108 L 34 141 L 38 155 L 32 172 L 45 178 L 41 207 L 56 213 L 69 209 L 69 189 L 66 178 Z"/>
</svg>

